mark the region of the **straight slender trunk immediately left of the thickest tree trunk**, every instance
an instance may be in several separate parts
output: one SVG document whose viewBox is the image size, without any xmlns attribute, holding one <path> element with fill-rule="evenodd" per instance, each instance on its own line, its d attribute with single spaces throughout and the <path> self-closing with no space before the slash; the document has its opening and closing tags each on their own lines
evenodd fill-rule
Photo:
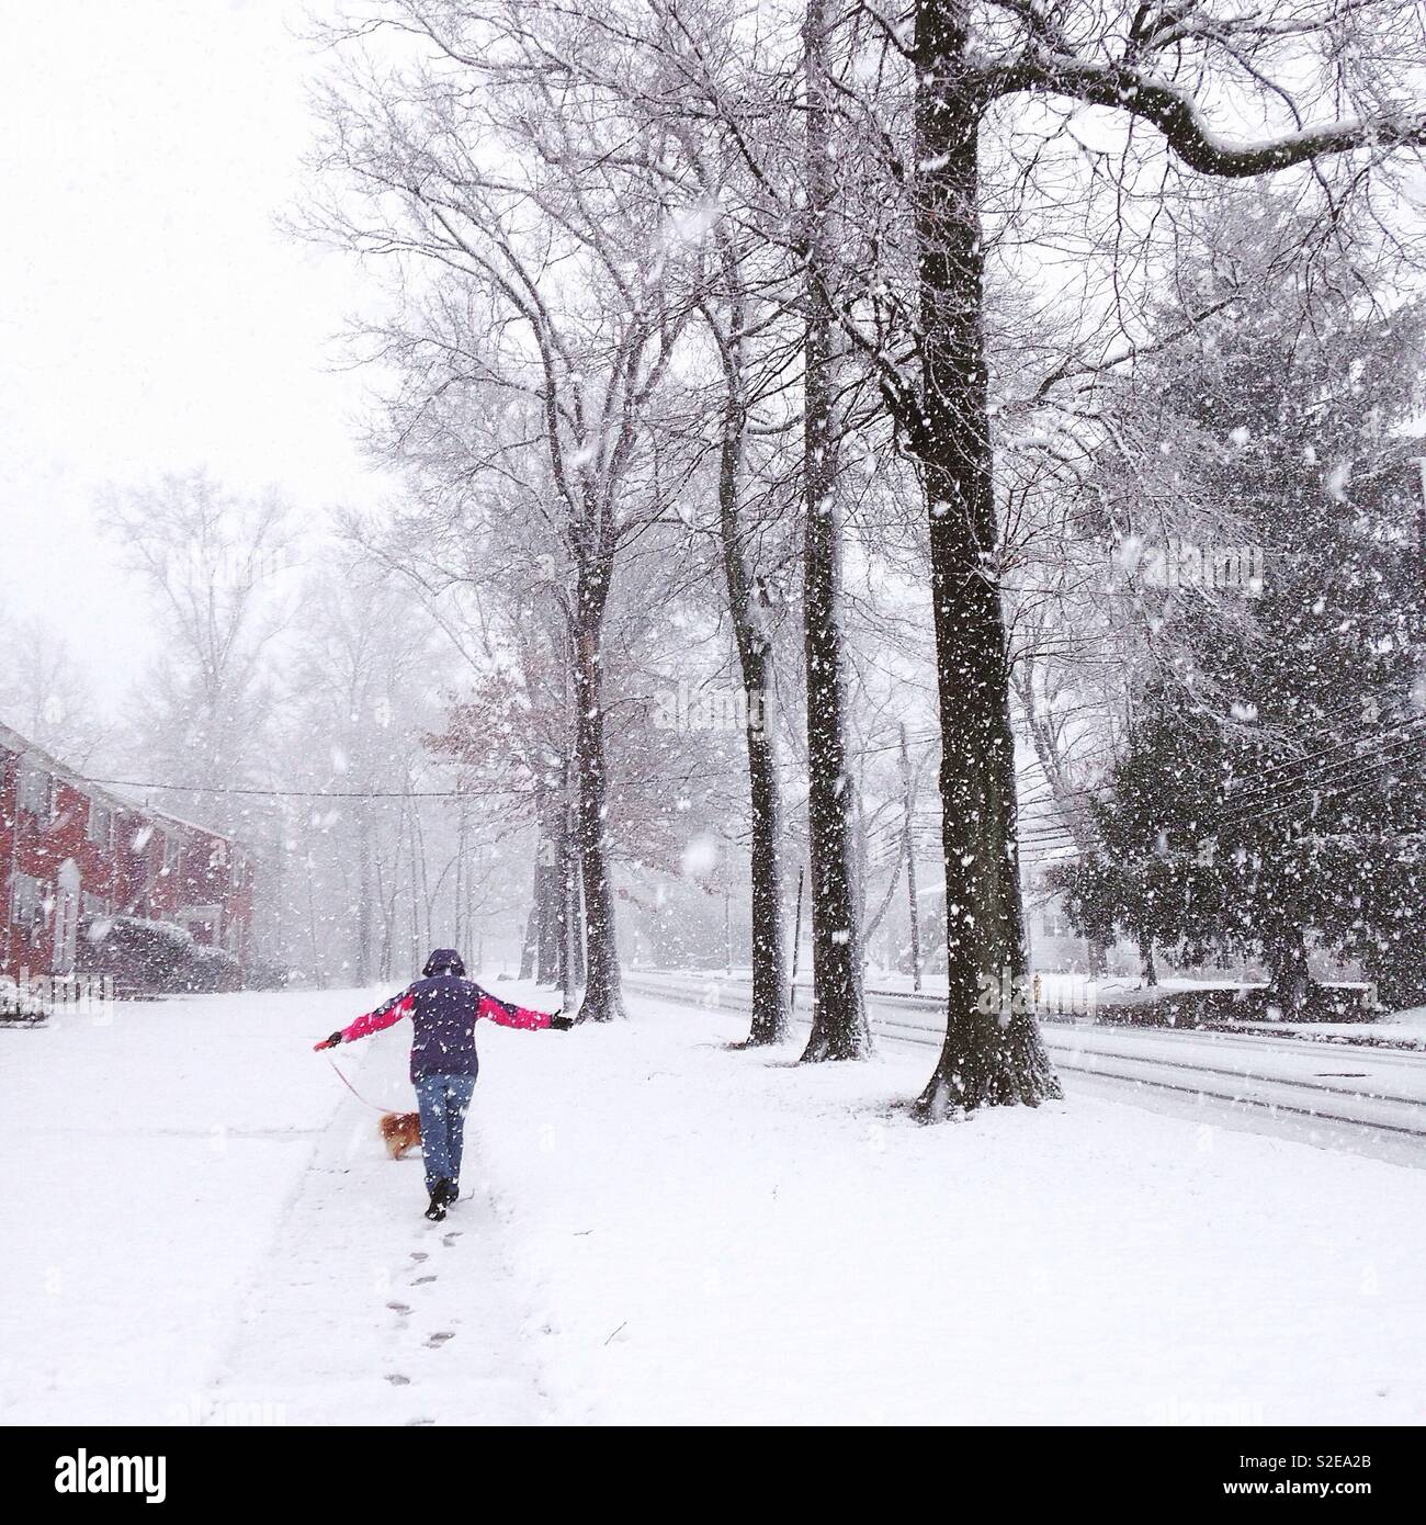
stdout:
<svg viewBox="0 0 1426 1525">
<path fill-rule="evenodd" d="M 807 329 L 804 337 L 804 650 L 807 657 L 807 830 L 811 859 L 811 1034 L 805 1061 L 866 1058 L 871 1029 L 862 993 L 856 913 L 851 775 L 846 770 L 846 662 L 840 627 L 840 535 L 836 514 L 837 430 L 833 390 L 833 203 L 828 157 L 825 0 L 808 0 L 807 79 Z"/>
</svg>

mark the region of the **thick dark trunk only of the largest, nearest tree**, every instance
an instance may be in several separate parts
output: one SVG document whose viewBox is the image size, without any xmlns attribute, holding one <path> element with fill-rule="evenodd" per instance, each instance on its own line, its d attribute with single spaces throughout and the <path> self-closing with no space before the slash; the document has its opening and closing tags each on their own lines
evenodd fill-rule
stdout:
<svg viewBox="0 0 1426 1525">
<path fill-rule="evenodd" d="M 979 223 L 978 104 L 959 76 L 964 0 L 917 12 L 923 375 L 912 448 L 930 517 L 946 856 L 946 1043 L 917 1113 L 1058 1096 L 1025 994 L 1014 737 L 999 578 Z"/>
</svg>

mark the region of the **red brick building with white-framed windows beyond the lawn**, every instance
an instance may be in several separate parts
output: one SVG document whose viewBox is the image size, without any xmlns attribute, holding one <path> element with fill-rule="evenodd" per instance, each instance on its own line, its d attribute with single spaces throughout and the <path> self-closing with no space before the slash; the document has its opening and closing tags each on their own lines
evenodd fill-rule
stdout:
<svg viewBox="0 0 1426 1525">
<path fill-rule="evenodd" d="M 81 926 L 171 921 L 242 962 L 253 868 L 232 839 L 84 781 L 0 724 L 0 973 L 66 974 Z"/>
</svg>

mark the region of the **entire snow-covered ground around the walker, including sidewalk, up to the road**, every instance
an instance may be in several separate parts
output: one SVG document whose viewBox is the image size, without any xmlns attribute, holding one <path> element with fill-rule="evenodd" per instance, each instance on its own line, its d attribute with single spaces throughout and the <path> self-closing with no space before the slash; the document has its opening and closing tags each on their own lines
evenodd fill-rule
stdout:
<svg viewBox="0 0 1426 1525">
<path fill-rule="evenodd" d="M 801 1069 L 634 999 L 482 1025 L 433 1226 L 311 1052 L 366 1005 L 0 1031 L 0 1418 L 1426 1421 L 1423 1170 L 1072 1086 L 920 1128 L 924 1054 Z M 337 1058 L 409 1104 L 401 1028 Z"/>
</svg>

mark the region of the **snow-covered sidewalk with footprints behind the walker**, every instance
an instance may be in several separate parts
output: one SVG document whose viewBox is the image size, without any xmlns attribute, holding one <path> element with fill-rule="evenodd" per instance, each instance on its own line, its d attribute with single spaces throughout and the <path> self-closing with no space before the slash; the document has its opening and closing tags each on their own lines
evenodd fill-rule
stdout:
<svg viewBox="0 0 1426 1525">
<path fill-rule="evenodd" d="M 336 1057 L 363 1098 L 415 1107 L 409 1040 L 403 1023 Z M 342 1103 L 244 1296 L 210 1423 L 538 1421 L 525 1304 L 467 1156 L 462 1200 L 427 1223 L 419 1153 L 393 1164 L 371 1107 Z"/>
</svg>

